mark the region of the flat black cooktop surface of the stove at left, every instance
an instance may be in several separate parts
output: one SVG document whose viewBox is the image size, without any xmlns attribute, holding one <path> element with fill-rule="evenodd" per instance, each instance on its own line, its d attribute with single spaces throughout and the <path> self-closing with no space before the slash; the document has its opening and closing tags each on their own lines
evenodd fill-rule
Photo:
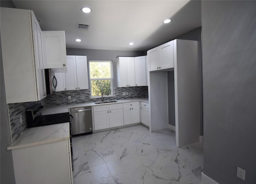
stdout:
<svg viewBox="0 0 256 184">
<path fill-rule="evenodd" d="M 27 124 L 28 128 L 70 122 L 69 112 L 37 116 Z"/>
</svg>

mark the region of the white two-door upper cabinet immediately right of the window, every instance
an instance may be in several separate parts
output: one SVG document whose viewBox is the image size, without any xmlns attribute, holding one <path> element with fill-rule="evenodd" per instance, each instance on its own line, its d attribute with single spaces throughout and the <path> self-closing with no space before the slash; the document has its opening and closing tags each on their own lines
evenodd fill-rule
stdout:
<svg viewBox="0 0 256 184">
<path fill-rule="evenodd" d="M 116 58 L 117 87 L 135 86 L 134 57 Z"/>
</svg>

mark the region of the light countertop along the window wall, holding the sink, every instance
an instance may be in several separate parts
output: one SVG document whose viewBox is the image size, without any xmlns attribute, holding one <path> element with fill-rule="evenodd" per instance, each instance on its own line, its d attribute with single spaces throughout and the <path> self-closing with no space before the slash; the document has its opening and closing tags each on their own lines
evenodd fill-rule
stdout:
<svg viewBox="0 0 256 184">
<path fill-rule="evenodd" d="M 129 99 L 121 99 L 121 100 L 115 100 L 115 101 L 117 102 L 111 102 L 111 103 L 105 103 L 105 104 L 95 104 L 95 102 L 84 102 L 79 104 L 47 106 L 46 108 L 44 108 L 44 110 L 42 110 L 42 115 L 70 112 L 70 108 L 77 108 L 77 107 L 111 105 L 111 104 L 120 104 L 120 103 L 127 103 L 127 102 L 138 102 L 138 101 L 148 103 L 148 98 L 129 98 Z"/>
</svg>

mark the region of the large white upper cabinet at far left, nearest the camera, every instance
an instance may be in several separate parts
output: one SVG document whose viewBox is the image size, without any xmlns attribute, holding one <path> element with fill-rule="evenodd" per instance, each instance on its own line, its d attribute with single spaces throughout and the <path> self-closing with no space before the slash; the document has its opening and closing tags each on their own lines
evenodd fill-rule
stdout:
<svg viewBox="0 0 256 184">
<path fill-rule="evenodd" d="M 6 102 L 46 97 L 42 31 L 33 11 L 1 8 L 1 42 Z"/>
</svg>

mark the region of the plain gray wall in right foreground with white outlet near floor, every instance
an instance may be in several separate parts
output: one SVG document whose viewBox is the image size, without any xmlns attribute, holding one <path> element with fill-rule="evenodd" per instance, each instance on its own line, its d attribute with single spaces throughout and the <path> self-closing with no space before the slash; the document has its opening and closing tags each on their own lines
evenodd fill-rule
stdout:
<svg viewBox="0 0 256 184">
<path fill-rule="evenodd" d="M 202 51 L 204 174 L 255 184 L 256 1 L 202 1 Z"/>
</svg>

